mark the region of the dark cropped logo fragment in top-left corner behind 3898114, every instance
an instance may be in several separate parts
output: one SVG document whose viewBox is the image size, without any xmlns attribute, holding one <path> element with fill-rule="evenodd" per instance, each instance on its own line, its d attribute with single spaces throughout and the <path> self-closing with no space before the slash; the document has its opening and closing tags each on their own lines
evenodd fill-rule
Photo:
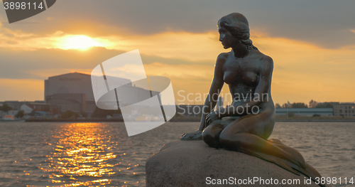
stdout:
<svg viewBox="0 0 355 187">
<path fill-rule="evenodd" d="M 35 16 L 50 8 L 56 0 L 3 0 L 9 23 Z"/>
</svg>

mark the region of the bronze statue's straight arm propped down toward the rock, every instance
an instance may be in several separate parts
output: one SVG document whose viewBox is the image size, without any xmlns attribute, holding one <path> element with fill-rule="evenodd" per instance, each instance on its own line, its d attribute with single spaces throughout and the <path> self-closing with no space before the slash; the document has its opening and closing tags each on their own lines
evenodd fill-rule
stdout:
<svg viewBox="0 0 355 187">
<path fill-rule="evenodd" d="M 212 80 L 212 85 L 209 88 L 209 94 L 207 95 L 206 101 L 204 102 L 204 107 L 202 108 L 202 117 L 199 131 L 202 131 L 206 126 L 206 116 L 209 112 L 212 112 L 214 107 L 216 106 L 219 93 L 224 85 L 223 80 L 223 65 L 226 61 L 227 54 L 221 53 L 218 55 L 216 60 L 216 65 L 214 67 L 214 76 Z"/>
</svg>

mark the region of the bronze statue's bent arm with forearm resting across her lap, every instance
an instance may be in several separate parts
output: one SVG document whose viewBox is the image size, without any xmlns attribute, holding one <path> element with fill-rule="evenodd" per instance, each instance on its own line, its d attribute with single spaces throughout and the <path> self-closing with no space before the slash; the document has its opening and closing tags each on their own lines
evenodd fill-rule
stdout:
<svg viewBox="0 0 355 187">
<path fill-rule="evenodd" d="M 246 102 L 241 107 L 227 107 L 219 110 L 219 117 L 241 117 L 246 114 L 252 113 L 253 106 L 259 106 L 263 104 L 263 102 L 267 102 L 269 99 L 270 88 L 271 88 L 271 78 L 273 75 L 273 59 L 266 56 L 265 60 L 261 62 L 260 70 L 259 70 L 259 81 L 256 86 L 255 95 L 258 95 L 258 100 L 251 100 Z"/>
</svg>

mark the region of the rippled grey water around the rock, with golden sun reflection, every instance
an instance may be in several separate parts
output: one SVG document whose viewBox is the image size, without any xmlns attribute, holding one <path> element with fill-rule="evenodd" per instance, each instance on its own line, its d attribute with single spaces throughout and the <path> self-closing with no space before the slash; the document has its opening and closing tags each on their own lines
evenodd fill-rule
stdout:
<svg viewBox="0 0 355 187">
<path fill-rule="evenodd" d="M 0 123 L 0 186 L 145 186 L 146 159 L 198 125 L 168 122 L 127 137 L 123 123 Z M 355 123 L 279 122 L 272 137 L 322 176 L 355 180 L 354 133 Z"/>
</svg>

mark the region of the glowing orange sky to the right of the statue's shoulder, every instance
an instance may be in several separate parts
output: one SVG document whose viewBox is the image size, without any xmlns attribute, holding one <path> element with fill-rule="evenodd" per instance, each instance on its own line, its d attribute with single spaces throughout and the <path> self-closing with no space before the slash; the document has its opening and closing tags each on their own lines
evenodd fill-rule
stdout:
<svg viewBox="0 0 355 187">
<path fill-rule="evenodd" d="M 324 49 L 311 43 L 267 37 L 256 38 L 254 44 L 273 58 L 271 91 L 275 102 L 354 100 L 354 47 Z"/>
</svg>

